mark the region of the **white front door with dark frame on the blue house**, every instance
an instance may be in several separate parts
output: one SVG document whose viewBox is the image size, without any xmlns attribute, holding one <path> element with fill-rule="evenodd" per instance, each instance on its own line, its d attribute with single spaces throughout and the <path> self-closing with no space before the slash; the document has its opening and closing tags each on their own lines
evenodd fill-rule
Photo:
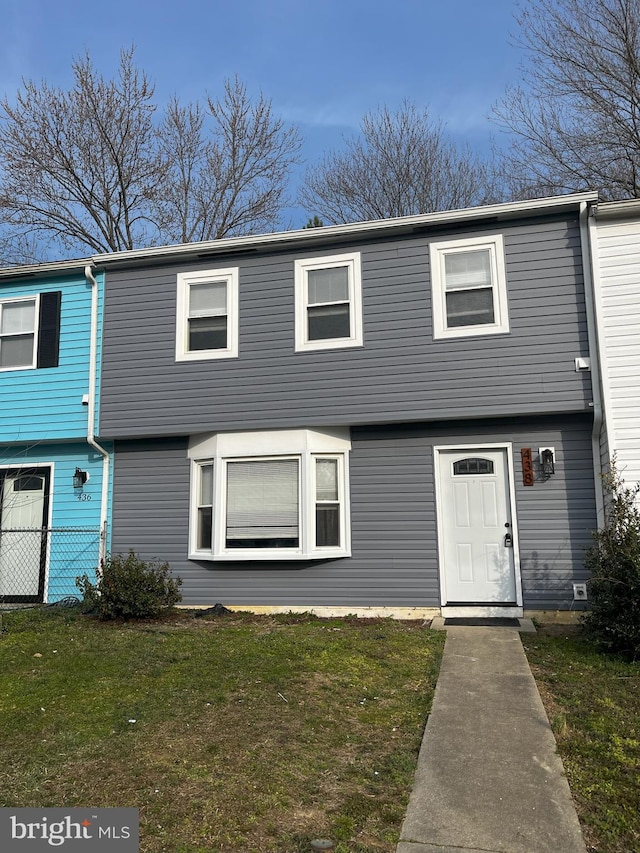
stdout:
<svg viewBox="0 0 640 853">
<path fill-rule="evenodd" d="M 49 469 L 0 471 L 0 597 L 42 600 Z"/>
</svg>

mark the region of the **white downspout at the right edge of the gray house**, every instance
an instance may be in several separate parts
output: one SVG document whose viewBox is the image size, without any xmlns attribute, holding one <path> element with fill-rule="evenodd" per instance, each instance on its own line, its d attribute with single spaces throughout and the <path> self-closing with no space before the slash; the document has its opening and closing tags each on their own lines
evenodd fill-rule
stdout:
<svg viewBox="0 0 640 853">
<path fill-rule="evenodd" d="M 591 361 L 591 387 L 593 391 L 593 429 L 591 431 L 591 453 L 593 456 L 593 476 L 596 493 L 596 517 L 598 529 L 604 526 L 604 496 L 602 492 L 602 461 L 600 454 L 600 433 L 604 421 L 600 384 L 600 347 L 601 329 L 599 324 L 598 293 L 596 282 L 599 280 L 598 258 L 592 239 L 593 229 L 589 223 L 591 208 L 587 202 L 580 202 L 580 246 L 582 250 L 582 271 L 584 278 L 584 299 L 587 314 L 587 337 L 589 340 L 589 358 Z"/>
</svg>

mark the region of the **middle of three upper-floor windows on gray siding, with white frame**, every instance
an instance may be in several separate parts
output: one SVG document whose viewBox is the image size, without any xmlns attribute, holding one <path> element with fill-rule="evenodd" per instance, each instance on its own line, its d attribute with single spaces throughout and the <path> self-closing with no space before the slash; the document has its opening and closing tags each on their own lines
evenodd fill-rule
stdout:
<svg viewBox="0 0 640 853">
<path fill-rule="evenodd" d="M 296 351 L 362 346 L 360 253 L 295 262 Z"/>
</svg>

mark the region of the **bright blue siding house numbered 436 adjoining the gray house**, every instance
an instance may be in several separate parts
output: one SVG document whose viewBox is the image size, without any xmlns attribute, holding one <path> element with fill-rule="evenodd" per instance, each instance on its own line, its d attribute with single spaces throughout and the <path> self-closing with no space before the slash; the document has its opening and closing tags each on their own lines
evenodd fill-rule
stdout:
<svg viewBox="0 0 640 853">
<path fill-rule="evenodd" d="M 103 289 L 85 261 L 0 270 L 0 602 L 77 595 L 108 545 Z"/>
</svg>

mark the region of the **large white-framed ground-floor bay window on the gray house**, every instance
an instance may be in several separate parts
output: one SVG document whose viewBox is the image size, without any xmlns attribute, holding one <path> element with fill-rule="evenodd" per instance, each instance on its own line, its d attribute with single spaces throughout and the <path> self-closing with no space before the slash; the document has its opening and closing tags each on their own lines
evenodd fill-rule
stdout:
<svg viewBox="0 0 640 853">
<path fill-rule="evenodd" d="M 349 449 L 344 430 L 224 433 L 192 441 L 190 558 L 348 556 Z"/>
</svg>

